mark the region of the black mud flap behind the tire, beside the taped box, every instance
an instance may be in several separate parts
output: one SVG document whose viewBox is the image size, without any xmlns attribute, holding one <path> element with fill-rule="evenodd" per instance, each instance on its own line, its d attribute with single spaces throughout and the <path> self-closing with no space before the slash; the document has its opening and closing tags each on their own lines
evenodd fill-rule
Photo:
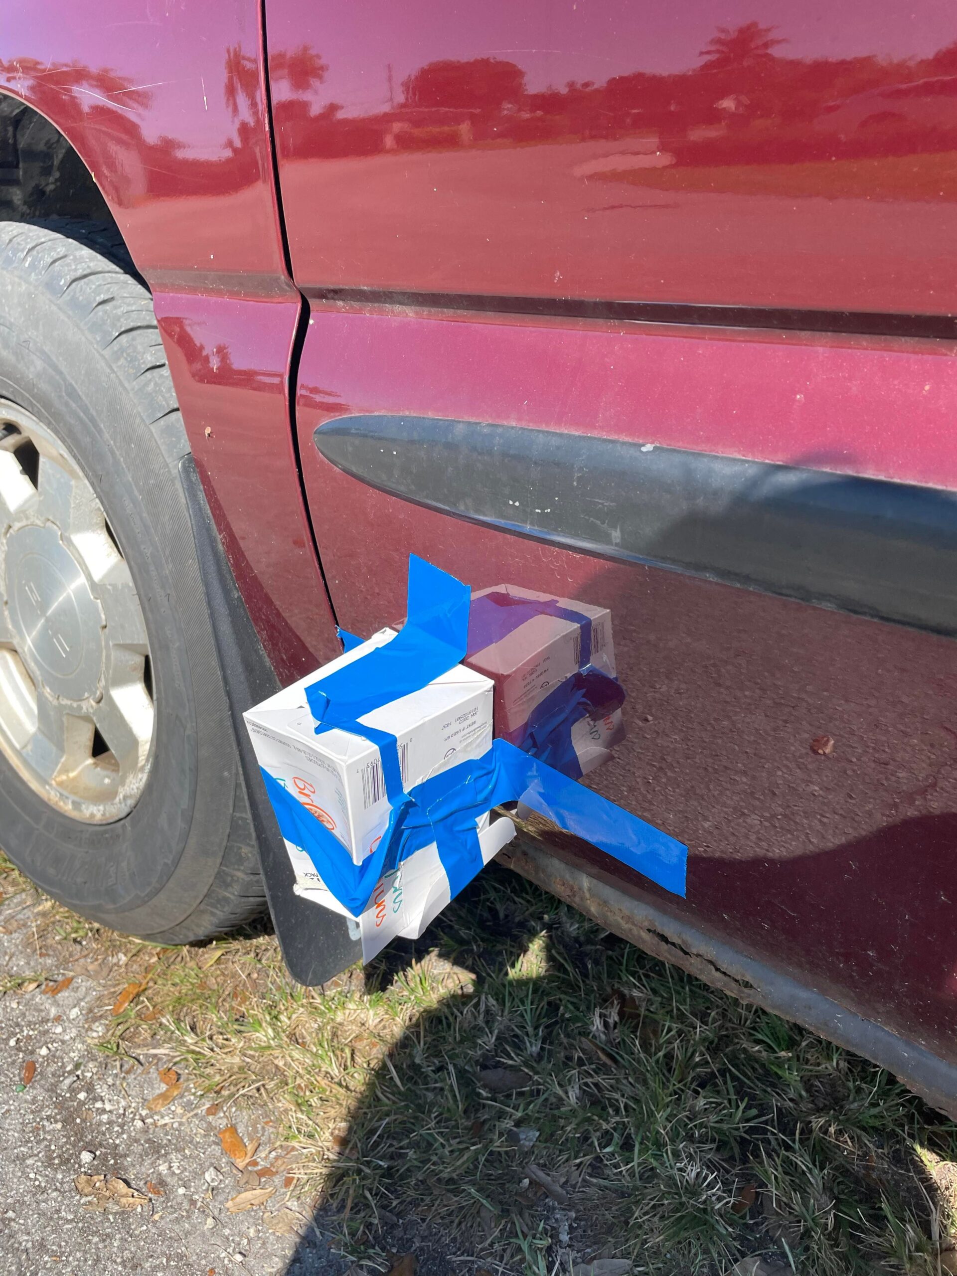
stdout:
<svg viewBox="0 0 957 1276">
<path fill-rule="evenodd" d="M 265 795 L 242 713 L 279 690 L 216 531 L 193 457 L 180 461 L 180 478 L 189 503 L 199 567 L 213 621 L 219 669 L 230 701 L 232 730 L 242 763 L 253 831 L 276 934 L 290 974 L 314 986 L 346 970 L 362 956 L 348 923 L 338 914 L 308 903 L 292 892 L 292 865 Z"/>
</svg>

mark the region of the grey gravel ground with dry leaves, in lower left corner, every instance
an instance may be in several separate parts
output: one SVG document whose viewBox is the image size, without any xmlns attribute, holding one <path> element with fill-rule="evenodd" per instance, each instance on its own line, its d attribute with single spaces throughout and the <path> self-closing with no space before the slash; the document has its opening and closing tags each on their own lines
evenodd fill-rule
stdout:
<svg viewBox="0 0 957 1276">
<path fill-rule="evenodd" d="M 268 1113 L 213 1110 L 188 1079 L 151 1111 L 168 1051 L 97 1048 L 121 956 L 37 938 L 37 907 L 23 894 L 0 906 L 0 1273 L 337 1276 L 346 1265 L 309 1212 L 285 1203 L 288 1150 Z M 234 1123 L 260 1139 L 245 1169 L 219 1139 Z M 227 1208 L 268 1188 L 265 1205 Z"/>
</svg>

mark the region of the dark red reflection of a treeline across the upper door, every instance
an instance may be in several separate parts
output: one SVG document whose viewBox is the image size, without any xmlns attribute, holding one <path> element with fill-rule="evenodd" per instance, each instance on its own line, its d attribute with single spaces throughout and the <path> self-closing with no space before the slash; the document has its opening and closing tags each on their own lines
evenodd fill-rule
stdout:
<svg viewBox="0 0 957 1276">
<path fill-rule="evenodd" d="M 651 138 L 678 167 L 957 147 L 957 121 L 946 106 L 924 134 L 920 121 L 903 130 L 907 135 L 893 142 L 893 152 L 887 151 L 887 130 L 874 139 L 864 135 L 868 130 L 846 138 L 809 128 L 828 103 L 957 73 L 957 41 L 930 57 L 896 60 L 870 54 L 789 57 L 787 45 L 786 33 L 757 20 L 720 26 L 701 48 L 699 65 L 686 70 L 637 69 L 606 83 L 569 80 L 561 88 L 532 89 L 522 66 L 508 59 L 438 59 L 404 75 L 399 102 L 389 89 L 379 110 L 352 115 L 342 103 L 322 100 L 329 66 L 302 43 L 271 57 L 274 122 L 282 153 L 297 158 L 628 137 Z M 240 61 L 228 70 L 237 100 L 246 97 L 254 88 L 253 65 Z"/>
</svg>

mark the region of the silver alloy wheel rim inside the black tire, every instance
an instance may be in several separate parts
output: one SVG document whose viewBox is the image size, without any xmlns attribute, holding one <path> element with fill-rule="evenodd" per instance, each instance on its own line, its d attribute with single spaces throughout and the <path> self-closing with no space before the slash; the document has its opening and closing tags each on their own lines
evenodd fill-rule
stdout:
<svg viewBox="0 0 957 1276">
<path fill-rule="evenodd" d="M 135 805 L 154 709 L 143 611 L 103 508 L 64 445 L 0 401 L 0 752 L 51 805 Z"/>
</svg>

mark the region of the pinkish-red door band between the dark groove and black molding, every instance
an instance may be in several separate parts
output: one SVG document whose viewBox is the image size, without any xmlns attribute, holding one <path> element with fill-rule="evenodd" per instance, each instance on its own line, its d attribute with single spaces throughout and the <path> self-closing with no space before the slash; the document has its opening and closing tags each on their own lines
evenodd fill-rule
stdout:
<svg viewBox="0 0 957 1276">
<path fill-rule="evenodd" d="M 954 356 L 957 343 L 942 341 L 314 306 L 299 401 L 329 415 L 500 421 L 957 490 Z M 315 417 L 300 422 L 304 454 L 306 421 Z"/>
</svg>

